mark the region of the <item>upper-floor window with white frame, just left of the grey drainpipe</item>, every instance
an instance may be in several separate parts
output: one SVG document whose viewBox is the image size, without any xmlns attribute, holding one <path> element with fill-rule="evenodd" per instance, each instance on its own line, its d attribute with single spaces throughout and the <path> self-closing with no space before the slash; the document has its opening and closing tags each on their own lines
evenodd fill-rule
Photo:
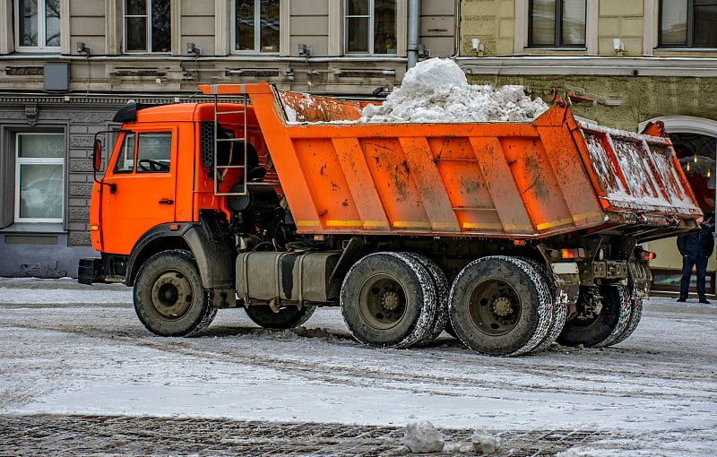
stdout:
<svg viewBox="0 0 717 457">
<path fill-rule="evenodd" d="M 396 54 L 396 1 L 346 0 L 347 53 Z"/>
</svg>

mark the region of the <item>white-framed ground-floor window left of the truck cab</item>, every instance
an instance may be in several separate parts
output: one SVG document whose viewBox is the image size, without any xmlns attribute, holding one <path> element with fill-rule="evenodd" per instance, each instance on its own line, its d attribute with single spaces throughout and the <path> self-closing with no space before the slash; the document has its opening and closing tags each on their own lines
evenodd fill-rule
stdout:
<svg viewBox="0 0 717 457">
<path fill-rule="evenodd" d="M 16 134 L 15 222 L 62 222 L 65 135 Z"/>
</svg>

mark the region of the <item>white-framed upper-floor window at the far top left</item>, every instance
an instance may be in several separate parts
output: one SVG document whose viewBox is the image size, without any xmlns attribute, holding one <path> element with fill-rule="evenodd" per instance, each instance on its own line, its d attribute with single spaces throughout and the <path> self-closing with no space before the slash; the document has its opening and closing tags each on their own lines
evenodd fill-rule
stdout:
<svg viewBox="0 0 717 457">
<path fill-rule="evenodd" d="M 18 50 L 60 50 L 60 0 L 15 0 Z"/>
</svg>

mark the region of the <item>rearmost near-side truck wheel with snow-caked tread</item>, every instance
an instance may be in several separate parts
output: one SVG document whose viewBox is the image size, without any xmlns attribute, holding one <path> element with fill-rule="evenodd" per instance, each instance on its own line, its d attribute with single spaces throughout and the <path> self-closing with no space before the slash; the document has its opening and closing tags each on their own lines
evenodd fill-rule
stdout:
<svg viewBox="0 0 717 457">
<path fill-rule="evenodd" d="M 548 334 L 552 301 L 540 274 L 523 260 L 488 256 L 465 266 L 449 297 L 451 323 L 469 348 L 517 356 Z"/>
</svg>

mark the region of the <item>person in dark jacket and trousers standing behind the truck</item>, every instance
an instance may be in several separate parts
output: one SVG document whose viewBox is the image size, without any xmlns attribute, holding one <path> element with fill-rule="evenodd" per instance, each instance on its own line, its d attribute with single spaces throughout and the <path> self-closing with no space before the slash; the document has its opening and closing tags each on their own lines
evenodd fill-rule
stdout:
<svg viewBox="0 0 717 457">
<path fill-rule="evenodd" d="M 679 254 L 682 254 L 682 280 L 679 281 L 678 301 L 687 301 L 687 290 L 689 279 L 692 276 L 692 267 L 697 270 L 697 296 L 700 303 L 710 303 L 705 297 L 704 276 L 707 272 L 707 261 L 714 249 L 713 229 L 711 220 L 703 222 L 700 218 L 697 222 L 702 230 L 678 236 Z"/>
</svg>

